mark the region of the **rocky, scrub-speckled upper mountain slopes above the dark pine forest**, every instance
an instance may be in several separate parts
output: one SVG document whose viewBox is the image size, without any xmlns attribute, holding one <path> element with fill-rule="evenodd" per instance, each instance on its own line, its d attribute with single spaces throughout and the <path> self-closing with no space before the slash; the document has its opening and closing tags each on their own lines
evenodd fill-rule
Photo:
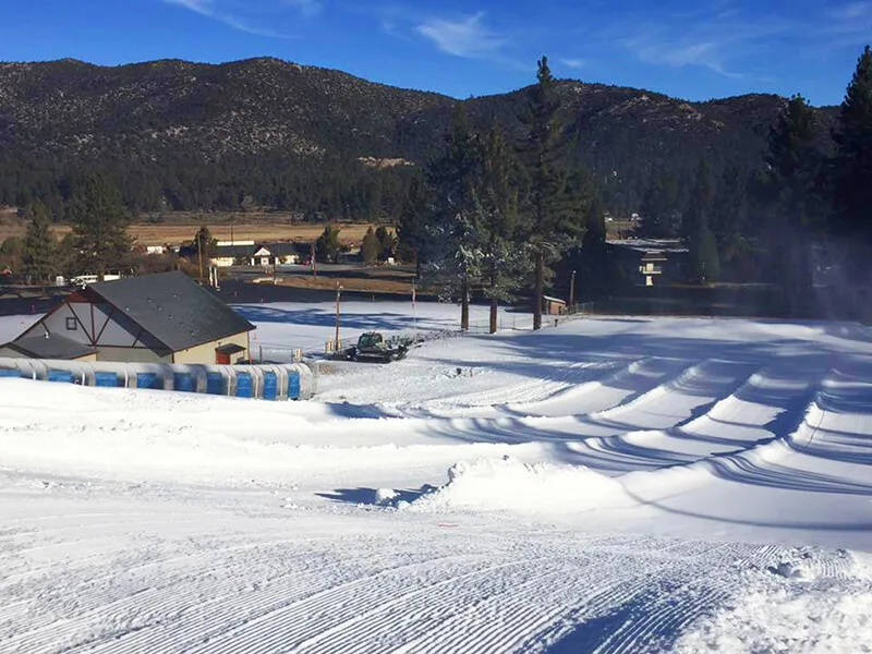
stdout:
<svg viewBox="0 0 872 654">
<path fill-rule="evenodd" d="M 576 81 L 561 82 L 560 90 L 579 158 L 603 179 L 622 180 L 634 196 L 657 164 L 689 169 L 705 157 L 717 168 L 759 165 L 783 101 L 750 95 L 688 102 Z M 519 133 L 524 97 L 520 89 L 463 102 L 473 122 L 496 120 Z M 9 196 L 24 184 L 48 183 L 33 181 L 22 167 L 55 178 L 84 164 L 113 167 L 128 178 L 137 174 L 132 167 L 199 179 L 207 177 L 204 167 L 216 166 L 221 172 L 208 174 L 223 180 L 232 177 L 227 170 L 241 179 L 239 171 L 265 159 L 422 164 L 457 102 L 277 59 L 117 68 L 73 60 L 0 63 L 0 171 L 19 179 L 7 181 Z M 825 113 L 822 134 L 827 122 Z M 182 177 L 156 177 L 154 185 L 174 186 Z"/>
</svg>

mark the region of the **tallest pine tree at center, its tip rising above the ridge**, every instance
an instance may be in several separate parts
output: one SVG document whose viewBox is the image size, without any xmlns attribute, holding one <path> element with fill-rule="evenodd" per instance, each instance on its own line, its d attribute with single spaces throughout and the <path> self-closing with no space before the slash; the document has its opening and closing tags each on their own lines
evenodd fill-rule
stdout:
<svg viewBox="0 0 872 654">
<path fill-rule="evenodd" d="M 560 114 L 557 81 L 548 68 L 547 57 L 538 61 L 536 81 L 521 116 L 526 128 L 521 154 L 530 175 L 524 214 L 533 259 L 533 329 L 541 329 L 548 264 L 578 242 L 582 216 L 572 197 L 573 189 L 568 184 L 565 166 L 568 138 Z"/>
</svg>

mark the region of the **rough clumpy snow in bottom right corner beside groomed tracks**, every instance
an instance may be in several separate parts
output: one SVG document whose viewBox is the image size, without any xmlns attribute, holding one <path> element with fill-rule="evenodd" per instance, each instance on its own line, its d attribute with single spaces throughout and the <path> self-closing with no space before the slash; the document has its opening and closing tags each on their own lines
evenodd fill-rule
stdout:
<svg viewBox="0 0 872 654">
<path fill-rule="evenodd" d="M 675 652 L 872 652 L 872 579 L 859 562 L 847 578 L 812 581 L 808 568 L 789 561 L 770 572 L 691 626 Z"/>
</svg>

